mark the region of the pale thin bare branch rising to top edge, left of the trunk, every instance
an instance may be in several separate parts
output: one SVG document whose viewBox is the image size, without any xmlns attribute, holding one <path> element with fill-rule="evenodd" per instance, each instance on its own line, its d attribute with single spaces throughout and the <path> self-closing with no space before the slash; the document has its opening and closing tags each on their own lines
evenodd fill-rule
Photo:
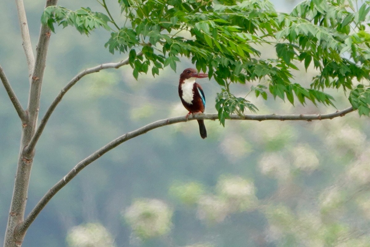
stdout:
<svg viewBox="0 0 370 247">
<path fill-rule="evenodd" d="M 33 74 L 33 68 L 35 65 L 35 57 L 32 51 L 32 44 L 30 38 L 30 32 L 28 31 L 27 16 L 24 10 L 23 0 L 16 0 L 17 13 L 19 26 L 21 28 L 22 45 L 24 53 L 26 54 L 26 60 L 28 65 L 28 77 L 30 78 Z"/>
</svg>

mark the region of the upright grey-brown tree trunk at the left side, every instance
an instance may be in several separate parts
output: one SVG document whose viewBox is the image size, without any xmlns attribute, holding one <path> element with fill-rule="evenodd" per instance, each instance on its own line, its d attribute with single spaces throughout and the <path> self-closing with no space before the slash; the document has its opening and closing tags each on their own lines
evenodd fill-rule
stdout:
<svg viewBox="0 0 370 247">
<path fill-rule="evenodd" d="M 46 7 L 55 5 L 57 0 L 47 0 Z M 23 24 L 23 23 L 21 23 Z M 26 23 L 24 23 L 26 25 Z M 22 135 L 18 157 L 17 172 L 14 182 L 13 197 L 11 199 L 8 224 L 5 232 L 4 247 L 21 246 L 27 229 L 17 231 L 17 227 L 24 220 L 27 202 L 28 184 L 31 175 L 31 167 L 34 149 L 27 149 L 37 126 L 38 111 L 40 109 L 41 84 L 44 76 L 45 62 L 48 43 L 50 39 L 50 28 L 41 26 L 37 45 L 37 55 L 34 70 L 30 79 L 30 93 L 26 110 L 26 119 L 22 121 Z"/>
</svg>

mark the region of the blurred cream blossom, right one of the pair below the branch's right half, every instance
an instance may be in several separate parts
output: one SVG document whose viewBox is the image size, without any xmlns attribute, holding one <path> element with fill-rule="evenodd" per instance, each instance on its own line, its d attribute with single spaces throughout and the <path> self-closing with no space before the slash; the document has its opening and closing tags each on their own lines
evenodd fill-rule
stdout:
<svg viewBox="0 0 370 247">
<path fill-rule="evenodd" d="M 319 166 L 316 152 L 308 145 L 298 145 L 292 149 L 293 165 L 304 171 L 312 171 Z"/>
</svg>

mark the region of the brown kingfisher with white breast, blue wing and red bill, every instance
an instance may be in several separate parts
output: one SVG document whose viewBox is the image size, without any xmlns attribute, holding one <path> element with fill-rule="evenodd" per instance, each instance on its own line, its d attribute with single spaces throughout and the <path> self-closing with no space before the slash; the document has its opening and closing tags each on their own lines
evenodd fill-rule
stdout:
<svg viewBox="0 0 370 247">
<path fill-rule="evenodd" d="M 195 82 L 196 78 L 205 78 L 208 74 L 198 73 L 194 68 L 187 68 L 180 75 L 179 81 L 179 96 L 182 104 L 189 111 L 186 119 L 190 114 L 203 113 L 206 107 L 206 98 L 204 92 L 198 83 Z M 204 139 L 207 137 L 206 126 L 203 119 L 197 119 L 199 124 L 199 132 Z"/>
</svg>

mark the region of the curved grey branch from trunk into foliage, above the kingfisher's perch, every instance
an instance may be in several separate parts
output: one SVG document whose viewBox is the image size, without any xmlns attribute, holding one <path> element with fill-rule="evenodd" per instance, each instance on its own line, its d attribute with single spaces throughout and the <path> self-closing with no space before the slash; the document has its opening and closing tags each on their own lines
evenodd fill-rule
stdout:
<svg viewBox="0 0 370 247">
<path fill-rule="evenodd" d="M 142 52 L 138 53 L 137 55 L 138 56 L 142 55 Z M 34 134 L 34 136 L 32 137 L 32 139 L 30 141 L 30 144 L 27 146 L 26 152 L 30 152 L 31 150 L 33 150 L 35 148 L 36 143 L 38 141 L 38 138 L 40 138 L 41 133 L 44 131 L 45 125 L 46 125 L 47 121 L 49 120 L 51 114 L 53 113 L 55 107 L 57 107 L 59 102 L 62 100 L 63 96 L 68 92 L 69 89 L 71 89 L 71 87 L 73 87 L 73 85 L 76 84 L 76 82 L 78 82 L 85 75 L 92 74 L 92 73 L 95 73 L 95 72 L 99 72 L 101 70 L 105 70 L 105 69 L 109 69 L 109 68 L 116 68 L 117 69 L 117 68 L 122 67 L 123 65 L 127 65 L 128 63 L 129 63 L 129 61 L 128 61 L 128 58 L 127 58 L 127 59 L 122 60 L 120 62 L 110 62 L 110 63 L 106 63 L 106 64 L 101 64 L 101 65 L 98 65 L 98 66 L 95 66 L 95 67 L 92 67 L 92 68 L 88 68 L 88 69 L 78 73 L 77 75 L 75 75 L 75 77 L 73 77 L 71 79 L 71 81 L 68 82 L 68 84 L 59 92 L 57 97 L 54 99 L 53 103 L 51 103 L 51 105 L 47 109 L 46 114 L 44 115 L 43 119 L 41 119 L 40 126 L 38 126 L 38 128 L 36 130 L 36 133 Z"/>
</svg>

